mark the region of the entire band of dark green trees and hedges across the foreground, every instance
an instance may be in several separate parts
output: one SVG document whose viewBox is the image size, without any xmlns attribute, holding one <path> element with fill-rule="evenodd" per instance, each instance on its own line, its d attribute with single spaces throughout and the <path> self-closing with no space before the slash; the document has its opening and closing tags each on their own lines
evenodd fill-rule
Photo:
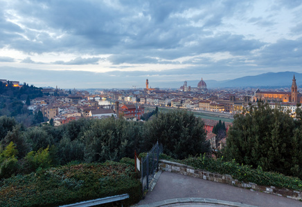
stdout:
<svg viewBox="0 0 302 207">
<path fill-rule="evenodd" d="M 169 159 L 194 168 L 302 190 L 301 110 L 293 119 L 263 103 L 250 106 L 235 116 L 223 157 L 217 160 L 199 156 L 211 155 L 201 119 L 181 110 L 154 115 L 146 122 L 112 117 L 31 128 L 0 117 L 0 198 L 5 202 L 0 206 L 56 206 L 131 193 L 140 188 L 133 165 L 130 170 L 112 161 L 133 158 L 134 150 L 148 152 L 157 141 Z M 139 201 L 141 194 L 132 196 Z"/>
</svg>

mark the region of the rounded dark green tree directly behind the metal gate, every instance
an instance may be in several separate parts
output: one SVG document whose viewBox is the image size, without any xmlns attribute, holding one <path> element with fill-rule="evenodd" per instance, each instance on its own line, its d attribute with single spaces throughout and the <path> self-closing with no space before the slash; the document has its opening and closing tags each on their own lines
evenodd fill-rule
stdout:
<svg viewBox="0 0 302 207">
<path fill-rule="evenodd" d="M 176 159 L 203 154 L 210 149 L 204 122 L 190 112 L 159 113 L 156 119 L 145 124 L 145 132 L 145 141 L 150 144 L 159 141 L 164 152 Z"/>
</svg>

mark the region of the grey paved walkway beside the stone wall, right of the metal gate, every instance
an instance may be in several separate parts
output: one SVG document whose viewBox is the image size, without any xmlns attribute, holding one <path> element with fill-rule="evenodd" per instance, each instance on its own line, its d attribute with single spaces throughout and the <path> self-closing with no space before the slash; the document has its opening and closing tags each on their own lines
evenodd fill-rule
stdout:
<svg viewBox="0 0 302 207">
<path fill-rule="evenodd" d="M 137 206 L 302 206 L 301 201 L 220 184 L 173 172 L 159 173 L 152 191 Z"/>
</svg>

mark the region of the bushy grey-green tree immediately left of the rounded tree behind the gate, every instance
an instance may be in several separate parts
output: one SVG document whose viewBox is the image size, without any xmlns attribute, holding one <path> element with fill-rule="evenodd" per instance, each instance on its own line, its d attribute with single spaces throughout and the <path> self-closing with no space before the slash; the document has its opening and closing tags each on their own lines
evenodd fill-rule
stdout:
<svg viewBox="0 0 302 207">
<path fill-rule="evenodd" d="M 122 157 L 133 157 L 140 147 L 143 123 L 125 119 L 94 120 L 85 131 L 85 161 L 117 161 Z M 149 150 L 149 149 L 148 149 Z"/>
</svg>

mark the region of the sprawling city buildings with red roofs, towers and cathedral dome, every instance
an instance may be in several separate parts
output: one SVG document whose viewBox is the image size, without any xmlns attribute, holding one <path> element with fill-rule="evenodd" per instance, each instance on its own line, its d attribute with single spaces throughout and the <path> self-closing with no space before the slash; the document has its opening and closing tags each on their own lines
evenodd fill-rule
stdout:
<svg viewBox="0 0 302 207">
<path fill-rule="evenodd" d="M 296 103 L 302 101 L 295 77 L 292 80 L 291 92 L 260 91 L 251 88 L 208 90 L 203 79 L 196 88 L 188 86 L 186 81 L 179 89 L 166 90 L 149 88 L 148 79 L 145 84 L 143 90 L 102 90 L 94 95 L 80 90 L 44 88 L 47 96 L 31 100 L 32 105 L 29 107 L 32 110 L 41 110 L 44 117 L 54 119 L 57 124 L 65 124 L 80 117 L 103 118 L 123 115 L 127 120 L 140 120 L 145 113 L 145 107 L 148 106 L 234 114 L 260 100 L 269 103 L 272 108 L 278 103 L 284 110 L 291 110 L 294 114 Z M 112 105 L 102 106 L 102 99 L 111 100 Z"/>
</svg>

